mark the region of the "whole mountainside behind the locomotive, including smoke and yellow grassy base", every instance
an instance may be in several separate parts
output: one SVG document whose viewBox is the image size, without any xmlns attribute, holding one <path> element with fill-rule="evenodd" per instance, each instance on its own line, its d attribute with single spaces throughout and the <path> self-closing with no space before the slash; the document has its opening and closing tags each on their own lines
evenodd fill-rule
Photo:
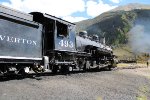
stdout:
<svg viewBox="0 0 150 100">
<path fill-rule="evenodd" d="M 76 25 L 77 32 L 86 30 L 89 35 L 105 37 L 106 44 L 111 45 L 118 56 L 130 57 L 139 52 L 150 52 L 150 5 L 121 6 L 93 19 L 77 22 Z"/>
</svg>

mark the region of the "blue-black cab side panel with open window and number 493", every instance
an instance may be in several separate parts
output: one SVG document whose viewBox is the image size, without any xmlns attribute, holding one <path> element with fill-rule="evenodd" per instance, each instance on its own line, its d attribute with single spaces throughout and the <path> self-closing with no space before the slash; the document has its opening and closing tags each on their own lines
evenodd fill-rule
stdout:
<svg viewBox="0 0 150 100">
<path fill-rule="evenodd" d="M 56 21 L 55 50 L 75 52 L 75 26 Z"/>
</svg>

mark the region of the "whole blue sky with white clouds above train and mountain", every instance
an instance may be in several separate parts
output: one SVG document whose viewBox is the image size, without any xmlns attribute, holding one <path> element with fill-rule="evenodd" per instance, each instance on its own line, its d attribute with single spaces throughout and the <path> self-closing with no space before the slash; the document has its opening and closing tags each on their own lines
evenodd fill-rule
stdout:
<svg viewBox="0 0 150 100">
<path fill-rule="evenodd" d="M 150 4 L 150 0 L 0 0 L 0 4 L 25 13 L 38 11 L 70 22 L 91 19 L 129 3 Z"/>
</svg>

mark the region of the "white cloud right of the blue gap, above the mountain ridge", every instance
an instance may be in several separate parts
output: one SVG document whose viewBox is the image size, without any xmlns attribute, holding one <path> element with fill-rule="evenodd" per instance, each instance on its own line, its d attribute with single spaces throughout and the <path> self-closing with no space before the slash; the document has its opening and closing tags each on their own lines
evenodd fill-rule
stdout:
<svg viewBox="0 0 150 100">
<path fill-rule="evenodd" d="M 89 0 L 86 3 L 87 7 L 87 14 L 89 16 L 95 17 L 100 15 L 103 12 L 109 11 L 117 6 L 111 6 L 109 4 L 104 4 L 102 0 L 99 0 L 99 2 Z"/>
</svg>

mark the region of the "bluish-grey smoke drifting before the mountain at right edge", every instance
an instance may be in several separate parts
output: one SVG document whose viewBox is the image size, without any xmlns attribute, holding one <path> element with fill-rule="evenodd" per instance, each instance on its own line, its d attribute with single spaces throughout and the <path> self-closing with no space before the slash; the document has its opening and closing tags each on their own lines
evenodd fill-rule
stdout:
<svg viewBox="0 0 150 100">
<path fill-rule="evenodd" d="M 134 53 L 150 53 L 150 21 L 140 20 L 129 32 L 129 43 Z"/>
</svg>

